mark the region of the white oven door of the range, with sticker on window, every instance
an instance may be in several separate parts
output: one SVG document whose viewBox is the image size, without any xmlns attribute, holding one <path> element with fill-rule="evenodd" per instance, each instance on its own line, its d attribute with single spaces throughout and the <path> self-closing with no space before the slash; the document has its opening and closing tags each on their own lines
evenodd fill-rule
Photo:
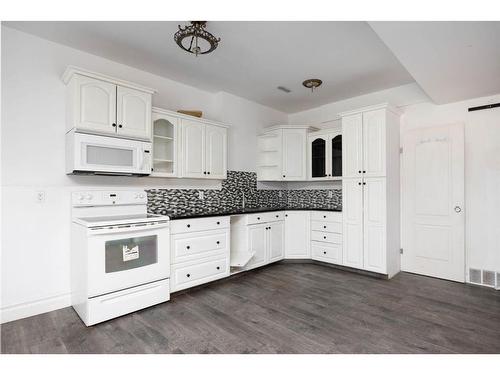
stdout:
<svg viewBox="0 0 500 375">
<path fill-rule="evenodd" d="M 168 223 L 88 233 L 88 297 L 170 276 Z"/>
</svg>

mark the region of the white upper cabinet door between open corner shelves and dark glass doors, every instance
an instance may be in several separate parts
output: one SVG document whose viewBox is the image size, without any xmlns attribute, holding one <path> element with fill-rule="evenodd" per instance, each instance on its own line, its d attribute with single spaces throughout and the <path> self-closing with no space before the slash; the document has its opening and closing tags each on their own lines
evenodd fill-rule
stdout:
<svg viewBox="0 0 500 375">
<path fill-rule="evenodd" d="M 283 180 L 304 181 L 306 179 L 306 132 L 305 130 L 283 130 Z"/>
</svg>

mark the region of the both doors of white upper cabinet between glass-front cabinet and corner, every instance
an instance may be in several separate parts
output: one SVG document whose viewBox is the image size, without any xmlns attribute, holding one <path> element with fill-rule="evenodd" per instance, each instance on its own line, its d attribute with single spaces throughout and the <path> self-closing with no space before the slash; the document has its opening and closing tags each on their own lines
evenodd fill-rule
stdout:
<svg viewBox="0 0 500 375">
<path fill-rule="evenodd" d="M 227 129 L 202 120 L 181 120 L 182 177 L 225 179 Z"/>
</svg>

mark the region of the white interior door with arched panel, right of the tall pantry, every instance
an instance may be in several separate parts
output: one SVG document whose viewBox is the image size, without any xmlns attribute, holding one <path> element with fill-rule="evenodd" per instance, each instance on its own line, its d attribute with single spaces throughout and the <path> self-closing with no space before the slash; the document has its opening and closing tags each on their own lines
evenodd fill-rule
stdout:
<svg viewBox="0 0 500 375">
<path fill-rule="evenodd" d="M 463 282 L 463 124 L 406 133 L 402 172 L 402 270 Z"/>
</svg>

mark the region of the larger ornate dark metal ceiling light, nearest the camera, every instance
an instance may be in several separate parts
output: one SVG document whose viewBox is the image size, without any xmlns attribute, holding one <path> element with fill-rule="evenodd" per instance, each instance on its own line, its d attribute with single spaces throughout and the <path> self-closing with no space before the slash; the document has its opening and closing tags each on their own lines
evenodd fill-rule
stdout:
<svg viewBox="0 0 500 375">
<path fill-rule="evenodd" d="M 216 38 L 208 31 L 207 21 L 191 21 L 191 25 L 181 27 L 174 34 L 174 41 L 184 51 L 195 56 L 205 55 L 217 48 L 220 38 Z"/>
</svg>

